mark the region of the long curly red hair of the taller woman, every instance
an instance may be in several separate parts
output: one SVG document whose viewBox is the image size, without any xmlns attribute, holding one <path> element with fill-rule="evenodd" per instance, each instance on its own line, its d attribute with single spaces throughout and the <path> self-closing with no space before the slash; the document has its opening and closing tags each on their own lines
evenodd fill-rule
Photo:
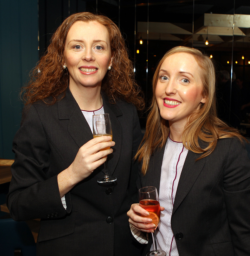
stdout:
<svg viewBox="0 0 250 256">
<path fill-rule="evenodd" d="M 102 81 L 102 91 L 110 98 L 111 103 L 124 99 L 133 103 L 138 110 L 144 108 L 141 90 L 134 79 L 133 65 L 128 58 L 127 48 L 119 28 L 104 15 L 93 13 L 75 13 L 66 18 L 53 34 L 51 43 L 44 56 L 32 70 L 28 86 L 23 87 L 25 105 L 42 100 L 54 104 L 65 96 L 69 83 L 69 74 L 63 69 L 64 48 L 67 33 L 76 21 L 97 21 L 107 28 L 110 37 L 112 69 L 107 71 Z M 48 101 L 50 97 L 50 101 Z"/>
</svg>

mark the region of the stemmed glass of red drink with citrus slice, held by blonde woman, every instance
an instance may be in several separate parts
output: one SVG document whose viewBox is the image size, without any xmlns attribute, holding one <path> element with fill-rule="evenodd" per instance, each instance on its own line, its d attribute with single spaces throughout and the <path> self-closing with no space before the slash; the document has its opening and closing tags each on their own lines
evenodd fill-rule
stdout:
<svg viewBox="0 0 250 256">
<path fill-rule="evenodd" d="M 147 256 L 166 256 L 165 251 L 157 250 L 156 246 L 156 228 L 160 221 L 160 203 L 157 189 L 155 187 L 144 187 L 139 189 L 140 207 L 149 212 L 148 218 L 152 219 L 155 224 L 152 232 L 154 250 L 150 251 Z"/>
</svg>

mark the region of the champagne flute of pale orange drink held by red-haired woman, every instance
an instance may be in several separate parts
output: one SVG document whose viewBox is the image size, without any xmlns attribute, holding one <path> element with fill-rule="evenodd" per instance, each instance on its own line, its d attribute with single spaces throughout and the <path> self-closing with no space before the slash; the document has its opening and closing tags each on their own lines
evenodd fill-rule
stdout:
<svg viewBox="0 0 250 256">
<path fill-rule="evenodd" d="M 93 115 L 93 137 L 96 138 L 100 136 L 111 136 L 113 138 L 109 114 Z M 110 141 L 112 141 L 112 138 Z M 110 147 L 105 147 L 102 150 L 107 150 L 109 148 Z M 105 177 L 98 179 L 97 182 L 109 183 L 116 180 L 116 178 L 108 175 L 107 160 L 104 163 L 104 174 Z"/>
</svg>

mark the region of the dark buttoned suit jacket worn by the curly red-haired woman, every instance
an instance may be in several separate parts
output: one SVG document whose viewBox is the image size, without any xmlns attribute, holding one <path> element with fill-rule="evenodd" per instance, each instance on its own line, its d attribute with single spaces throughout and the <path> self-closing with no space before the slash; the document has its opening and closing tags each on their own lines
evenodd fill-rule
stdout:
<svg viewBox="0 0 250 256">
<path fill-rule="evenodd" d="M 41 218 L 38 255 L 139 255 L 131 239 L 127 211 L 136 195 L 138 168 L 133 156 L 141 141 L 135 106 L 110 104 L 113 153 L 108 156 L 112 185 L 100 185 L 103 166 L 65 195 L 62 206 L 57 174 L 75 159 L 79 148 L 93 138 L 77 102 L 67 89 L 54 105 L 32 104 L 13 141 L 15 162 L 7 196 L 16 221 Z"/>
</svg>

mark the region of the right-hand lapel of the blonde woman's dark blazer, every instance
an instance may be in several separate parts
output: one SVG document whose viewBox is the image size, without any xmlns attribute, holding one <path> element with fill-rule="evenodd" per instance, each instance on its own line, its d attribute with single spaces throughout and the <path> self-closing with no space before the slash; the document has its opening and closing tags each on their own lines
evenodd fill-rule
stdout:
<svg viewBox="0 0 250 256">
<path fill-rule="evenodd" d="M 200 175 L 200 172 L 205 165 L 205 158 L 202 158 L 195 162 L 198 157 L 200 157 L 200 154 L 188 151 L 188 155 L 183 165 L 183 170 L 180 175 L 180 180 L 175 195 L 173 214 L 192 188 L 195 180 Z"/>
</svg>

